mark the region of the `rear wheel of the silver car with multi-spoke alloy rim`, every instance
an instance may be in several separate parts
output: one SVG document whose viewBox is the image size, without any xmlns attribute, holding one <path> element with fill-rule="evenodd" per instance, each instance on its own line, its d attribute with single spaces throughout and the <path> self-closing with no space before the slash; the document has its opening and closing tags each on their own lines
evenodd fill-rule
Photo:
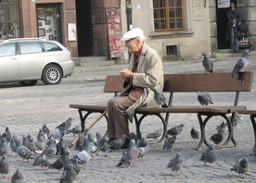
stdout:
<svg viewBox="0 0 256 183">
<path fill-rule="evenodd" d="M 58 84 L 62 79 L 62 71 L 56 65 L 48 65 L 44 68 L 42 80 L 48 84 Z"/>
</svg>

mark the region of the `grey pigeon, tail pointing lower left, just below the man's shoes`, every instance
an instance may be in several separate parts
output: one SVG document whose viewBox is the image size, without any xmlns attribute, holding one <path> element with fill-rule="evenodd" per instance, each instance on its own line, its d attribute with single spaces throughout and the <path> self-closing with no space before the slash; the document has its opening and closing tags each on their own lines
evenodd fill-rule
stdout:
<svg viewBox="0 0 256 183">
<path fill-rule="evenodd" d="M 122 153 L 121 160 L 119 161 L 117 166 L 120 165 L 128 165 L 129 167 L 134 165 L 134 161 L 137 159 L 139 155 L 139 150 L 135 145 L 135 141 L 131 140 L 126 151 Z"/>
</svg>

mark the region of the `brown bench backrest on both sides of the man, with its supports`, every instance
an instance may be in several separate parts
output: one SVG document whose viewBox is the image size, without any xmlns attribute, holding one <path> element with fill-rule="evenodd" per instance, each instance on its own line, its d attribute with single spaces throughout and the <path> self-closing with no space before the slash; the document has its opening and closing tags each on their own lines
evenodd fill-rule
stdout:
<svg viewBox="0 0 256 183">
<path fill-rule="evenodd" d="M 173 101 L 173 92 L 237 92 L 235 104 L 238 103 L 239 92 L 250 92 L 253 79 L 252 72 L 240 72 L 234 78 L 230 73 L 192 73 L 165 74 L 163 92 L 170 92 L 169 104 Z M 107 76 L 104 92 L 123 90 L 123 79 L 119 76 Z"/>
</svg>

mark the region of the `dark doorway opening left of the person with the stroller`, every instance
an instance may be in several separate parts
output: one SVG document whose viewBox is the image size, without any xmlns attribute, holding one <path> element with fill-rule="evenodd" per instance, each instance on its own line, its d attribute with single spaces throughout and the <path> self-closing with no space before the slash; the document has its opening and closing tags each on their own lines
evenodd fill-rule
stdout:
<svg viewBox="0 0 256 183">
<path fill-rule="evenodd" d="M 225 6 L 219 6 L 220 3 L 225 3 Z M 234 3 L 237 6 L 237 0 L 216 0 L 216 14 L 217 14 L 217 40 L 218 49 L 230 49 L 229 40 L 226 40 L 225 36 L 227 33 L 227 11 L 230 3 Z"/>
</svg>

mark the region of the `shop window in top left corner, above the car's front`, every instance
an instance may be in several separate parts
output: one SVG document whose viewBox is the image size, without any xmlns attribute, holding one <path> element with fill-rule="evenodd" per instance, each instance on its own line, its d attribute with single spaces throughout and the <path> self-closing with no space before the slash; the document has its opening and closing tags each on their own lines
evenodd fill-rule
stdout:
<svg viewBox="0 0 256 183">
<path fill-rule="evenodd" d="M 19 0 L 0 3 L 0 39 L 19 38 Z"/>
</svg>

